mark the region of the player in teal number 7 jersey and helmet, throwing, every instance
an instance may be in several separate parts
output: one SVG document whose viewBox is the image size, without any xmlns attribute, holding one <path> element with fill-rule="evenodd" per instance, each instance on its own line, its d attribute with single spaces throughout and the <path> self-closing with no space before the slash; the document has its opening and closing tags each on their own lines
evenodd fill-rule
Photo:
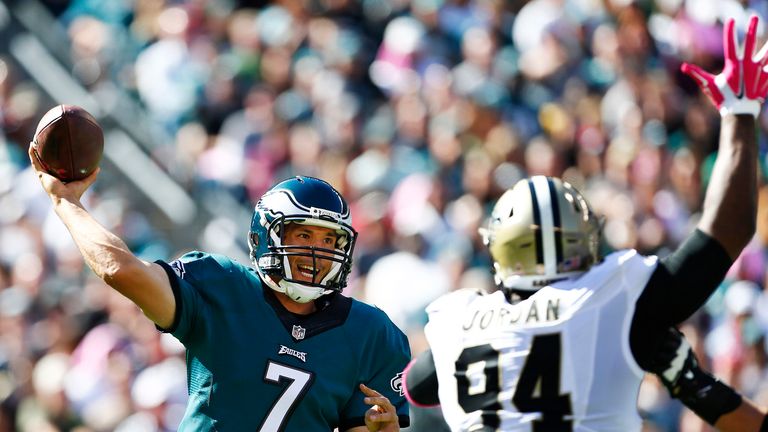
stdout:
<svg viewBox="0 0 768 432">
<path fill-rule="evenodd" d="M 405 335 L 343 296 L 357 233 L 331 185 L 295 177 L 258 201 L 253 266 L 190 252 L 133 255 L 83 208 L 98 172 L 62 183 L 30 159 L 93 271 L 187 350 L 182 431 L 382 431 L 409 424 Z M 375 390 L 374 390 L 375 389 Z"/>
</svg>

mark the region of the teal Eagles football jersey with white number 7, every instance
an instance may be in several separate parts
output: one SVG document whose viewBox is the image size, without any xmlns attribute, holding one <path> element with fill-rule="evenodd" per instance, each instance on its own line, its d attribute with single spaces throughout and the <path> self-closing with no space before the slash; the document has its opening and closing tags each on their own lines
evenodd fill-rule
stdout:
<svg viewBox="0 0 768 432">
<path fill-rule="evenodd" d="M 229 258 L 191 252 L 159 264 L 177 303 L 167 331 L 187 349 L 180 431 L 344 431 L 365 425 L 360 383 L 388 397 L 408 425 L 401 373 L 410 348 L 380 309 L 332 295 L 296 315 Z"/>
</svg>

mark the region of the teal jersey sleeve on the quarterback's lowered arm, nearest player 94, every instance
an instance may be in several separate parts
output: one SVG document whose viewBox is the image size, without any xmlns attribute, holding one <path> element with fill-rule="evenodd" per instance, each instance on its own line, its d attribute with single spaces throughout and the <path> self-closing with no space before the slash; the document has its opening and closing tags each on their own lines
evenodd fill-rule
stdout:
<svg viewBox="0 0 768 432">
<path fill-rule="evenodd" d="M 381 310 L 370 308 L 365 319 L 375 326 L 373 337 L 367 340 L 363 349 L 363 364 L 360 382 L 387 397 L 397 409 L 400 427 L 410 425 L 408 401 L 403 388 L 403 370 L 411 358 L 408 338 Z M 374 318 L 374 319 L 371 319 Z M 371 408 L 363 402 L 365 394 L 356 386 L 352 397 L 344 407 L 339 430 L 365 425 L 365 412 Z"/>
</svg>

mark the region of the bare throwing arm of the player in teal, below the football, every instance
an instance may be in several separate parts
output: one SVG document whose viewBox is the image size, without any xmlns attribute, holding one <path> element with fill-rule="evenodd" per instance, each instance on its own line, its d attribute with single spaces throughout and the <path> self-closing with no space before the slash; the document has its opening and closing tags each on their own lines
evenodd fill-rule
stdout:
<svg viewBox="0 0 768 432">
<path fill-rule="evenodd" d="M 98 170 L 80 181 L 63 183 L 45 172 L 29 147 L 29 159 L 53 209 L 69 230 L 86 264 L 98 277 L 129 298 L 162 328 L 173 323 L 176 303 L 170 281 L 157 264 L 143 261 L 85 210 L 80 197 L 93 184 Z"/>
</svg>

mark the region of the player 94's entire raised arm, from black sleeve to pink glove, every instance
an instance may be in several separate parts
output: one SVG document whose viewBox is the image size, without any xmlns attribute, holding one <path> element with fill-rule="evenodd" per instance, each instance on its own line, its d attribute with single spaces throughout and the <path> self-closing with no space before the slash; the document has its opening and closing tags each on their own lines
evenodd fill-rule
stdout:
<svg viewBox="0 0 768 432">
<path fill-rule="evenodd" d="M 720 285 L 755 232 L 756 118 L 768 93 L 768 48 L 754 54 L 757 17 L 750 18 L 739 58 L 733 20 L 723 31 L 725 67 L 717 76 L 683 64 L 719 110 L 720 142 L 697 229 L 664 257 L 637 301 L 630 346 L 641 365 L 666 328 L 697 311 Z"/>
</svg>

